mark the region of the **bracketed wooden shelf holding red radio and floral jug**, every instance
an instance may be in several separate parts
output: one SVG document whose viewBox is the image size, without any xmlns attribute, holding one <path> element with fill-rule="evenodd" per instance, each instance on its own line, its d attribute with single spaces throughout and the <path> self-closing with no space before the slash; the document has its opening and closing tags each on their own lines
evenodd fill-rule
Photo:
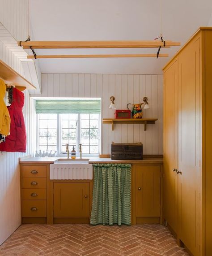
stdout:
<svg viewBox="0 0 212 256">
<path fill-rule="evenodd" d="M 154 124 L 157 118 L 103 118 L 103 124 L 111 124 L 114 130 L 114 124 L 144 124 L 146 130 L 147 124 Z"/>
</svg>

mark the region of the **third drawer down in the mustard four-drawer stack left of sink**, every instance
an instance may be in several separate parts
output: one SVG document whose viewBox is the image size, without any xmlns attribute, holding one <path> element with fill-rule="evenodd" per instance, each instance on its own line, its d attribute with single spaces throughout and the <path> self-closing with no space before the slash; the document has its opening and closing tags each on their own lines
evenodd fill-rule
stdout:
<svg viewBox="0 0 212 256">
<path fill-rule="evenodd" d="M 47 190 L 45 188 L 24 188 L 22 189 L 23 200 L 46 200 Z"/>
</svg>

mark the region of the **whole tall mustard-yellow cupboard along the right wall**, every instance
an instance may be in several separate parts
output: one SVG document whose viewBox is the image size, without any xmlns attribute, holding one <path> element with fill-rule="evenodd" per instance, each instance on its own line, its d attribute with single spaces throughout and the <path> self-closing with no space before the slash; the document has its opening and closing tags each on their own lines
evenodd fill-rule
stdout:
<svg viewBox="0 0 212 256">
<path fill-rule="evenodd" d="M 164 68 L 164 219 L 180 245 L 212 256 L 212 28 Z"/>
</svg>

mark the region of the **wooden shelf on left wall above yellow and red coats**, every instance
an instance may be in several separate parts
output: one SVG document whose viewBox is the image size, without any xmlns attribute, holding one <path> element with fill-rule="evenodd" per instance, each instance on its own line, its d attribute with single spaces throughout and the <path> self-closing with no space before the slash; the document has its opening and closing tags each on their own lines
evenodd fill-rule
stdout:
<svg viewBox="0 0 212 256">
<path fill-rule="evenodd" d="M 18 74 L 14 69 L 8 66 L 4 61 L 0 60 L 0 78 L 9 85 L 20 87 L 20 89 L 36 89 L 36 87 Z M 21 91 L 22 91 L 21 90 Z"/>
</svg>

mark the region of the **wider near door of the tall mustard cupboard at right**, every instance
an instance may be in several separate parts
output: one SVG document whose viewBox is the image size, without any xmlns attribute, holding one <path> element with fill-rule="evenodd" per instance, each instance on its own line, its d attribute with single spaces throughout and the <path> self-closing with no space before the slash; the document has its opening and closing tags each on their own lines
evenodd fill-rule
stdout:
<svg viewBox="0 0 212 256">
<path fill-rule="evenodd" d="M 199 255 L 200 39 L 179 55 L 178 217 L 179 239 Z"/>
</svg>

